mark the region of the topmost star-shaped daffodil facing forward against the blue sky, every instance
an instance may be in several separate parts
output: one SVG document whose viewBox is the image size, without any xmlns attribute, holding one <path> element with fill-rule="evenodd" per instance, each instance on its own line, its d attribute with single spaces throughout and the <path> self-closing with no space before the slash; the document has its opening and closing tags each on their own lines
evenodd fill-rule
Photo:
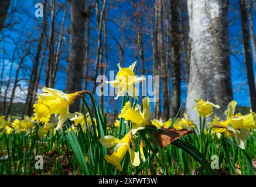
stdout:
<svg viewBox="0 0 256 187">
<path fill-rule="evenodd" d="M 144 81 L 144 77 L 137 77 L 134 72 L 134 67 L 136 65 L 136 61 L 130 65 L 128 68 L 121 68 L 118 63 L 118 73 L 113 81 L 105 81 L 109 83 L 113 88 L 118 88 L 117 97 L 125 95 L 127 92 L 130 96 L 135 99 L 138 99 L 138 89 L 135 88 L 135 84 L 138 84 L 141 81 Z"/>
</svg>

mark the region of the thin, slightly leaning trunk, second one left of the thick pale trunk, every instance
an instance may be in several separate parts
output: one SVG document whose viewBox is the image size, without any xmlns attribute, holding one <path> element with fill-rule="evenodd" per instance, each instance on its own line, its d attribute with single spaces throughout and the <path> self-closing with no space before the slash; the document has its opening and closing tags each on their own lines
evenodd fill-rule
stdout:
<svg viewBox="0 0 256 187">
<path fill-rule="evenodd" d="M 163 94 L 163 120 L 169 119 L 169 96 L 168 96 L 168 68 L 165 61 L 165 49 L 163 45 L 163 1 L 156 2 L 158 7 L 158 60 L 160 65 L 160 75 L 162 81 L 162 94 Z"/>
</svg>

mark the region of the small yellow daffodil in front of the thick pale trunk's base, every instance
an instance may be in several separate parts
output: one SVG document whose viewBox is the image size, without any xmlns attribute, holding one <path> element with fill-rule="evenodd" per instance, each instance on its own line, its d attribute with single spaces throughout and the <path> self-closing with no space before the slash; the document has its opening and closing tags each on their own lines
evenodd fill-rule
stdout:
<svg viewBox="0 0 256 187">
<path fill-rule="evenodd" d="M 204 101 L 203 99 L 194 99 L 196 102 L 196 106 L 194 106 L 193 110 L 197 110 L 198 116 L 208 117 L 213 114 L 213 107 L 219 109 L 219 105 L 214 105 L 213 103 Z"/>
</svg>

